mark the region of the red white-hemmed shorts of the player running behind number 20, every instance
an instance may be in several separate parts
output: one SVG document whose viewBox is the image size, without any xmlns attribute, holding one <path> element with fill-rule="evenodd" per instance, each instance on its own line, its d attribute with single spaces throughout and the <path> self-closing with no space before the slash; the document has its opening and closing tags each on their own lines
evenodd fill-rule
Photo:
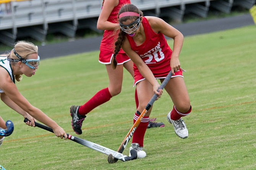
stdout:
<svg viewBox="0 0 256 170">
<path fill-rule="evenodd" d="M 99 62 L 102 64 L 111 64 L 113 57 L 113 52 L 108 50 L 100 50 Z M 121 49 L 116 56 L 117 64 L 124 64 L 125 62 L 130 61 L 131 59 L 126 55 L 126 53 Z"/>
</svg>

